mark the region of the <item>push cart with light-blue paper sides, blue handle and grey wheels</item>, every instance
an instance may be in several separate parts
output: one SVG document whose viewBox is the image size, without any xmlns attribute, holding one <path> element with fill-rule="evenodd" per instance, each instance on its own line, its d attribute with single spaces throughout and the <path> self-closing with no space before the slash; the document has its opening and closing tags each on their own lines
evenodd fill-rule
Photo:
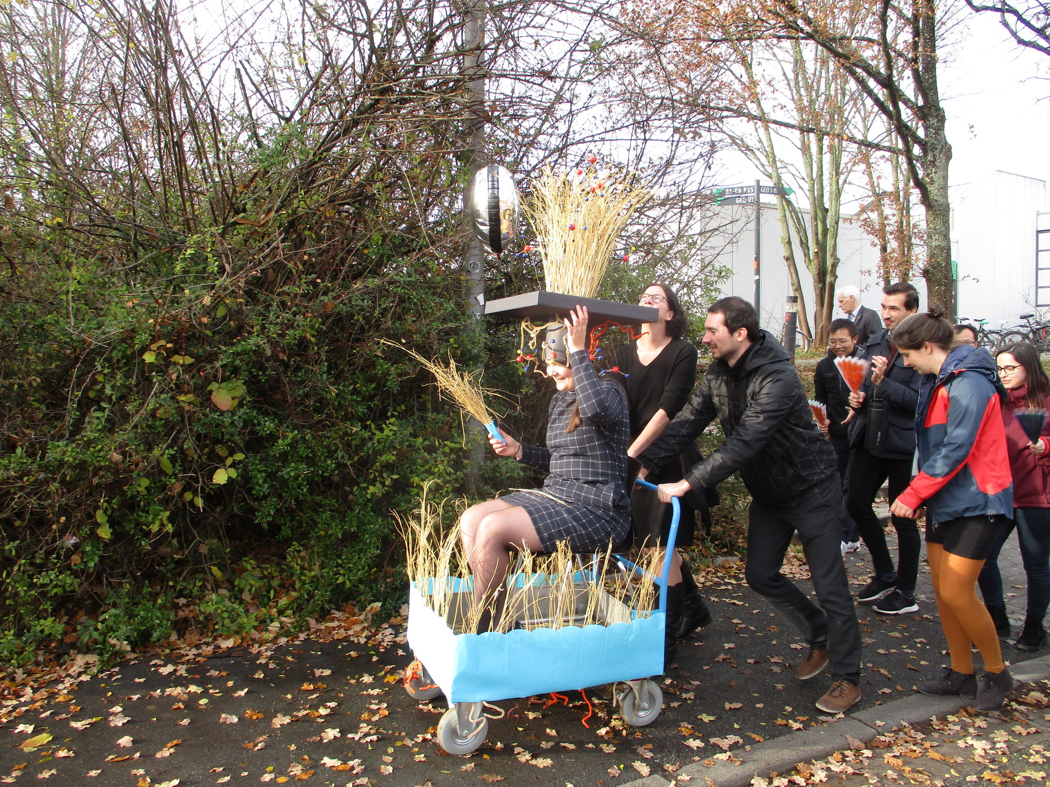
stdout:
<svg viewBox="0 0 1050 787">
<path fill-rule="evenodd" d="M 636 482 L 650 490 L 656 486 Z M 625 580 L 639 576 L 659 587 L 659 607 L 636 610 L 603 592 L 598 617 L 604 625 L 572 622 L 578 607 L 570 605 L 568 624 L 551 629 L 549 618 L 520 620 L 521 628 L 507 633 L 457 633 L 462 620 L 454 614 L 441 617 L 430 609 L 424 594 L 435 592 L 433 580 L 412 584 L 408 601 L 408 645 L 416 661 L 404 675 L 405 690 L 420 700 L 444 694 L 448 710 L 438 724 L 438 741 L 450 754 L 467 754 L 485 741 L 489 718 L 485 704 L 496 700 L 530 697 L 549 692 L 570 692 L 603 684 L 613 685 L 613 701 L 632 726 L 651 724 L 659 716 L 663 694 L 651 676 L 664 672 L 664 628 L 667 620 L 667 580 L 671 552 L 678 533 L 680 505 L 672 498 L 667 555 L 659 577 L 621 555 L 610 561 Z M 576 556 L 579 570 L 569 577 L 549 577 L 542 587 L 525 586 L 516 569 L 508 578 L 508 605 L 516 597 L 531 594 L 528 609 L 552 607 L 554 595 L 587 588 L 600 572 L 597 555 L 589 563 Z M 519 563 L 520 568 L 520 563 Z M 454 579 L 453 593 L 471 594 L 470 580 Z M 426 586 L 426 587 L 420 587 Z M 579 598 L 586 594 L 581 591 Z M 564 608 L 564 596 L 561 597 Z M 539 605 L 538 605 L 539 604 Z M 465 605 L 463 605 L 465 607 Z M 522 604 L 522 610 L 526 604 Z M 646 614 L 648 612 L 648 614 Z M 639 615 L 639 613 L 642 613 Z M 583 617 L 581 614 L 580 617 Z M 623 684 L 623 685 L 618 685 Z"/>
</svg>

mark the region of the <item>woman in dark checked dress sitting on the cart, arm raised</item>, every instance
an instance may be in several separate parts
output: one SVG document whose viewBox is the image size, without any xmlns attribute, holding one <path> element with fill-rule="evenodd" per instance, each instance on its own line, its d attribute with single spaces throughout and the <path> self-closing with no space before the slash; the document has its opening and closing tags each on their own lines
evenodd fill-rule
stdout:
<svg viewBox="0 0 1050 787">
<path fill-rule="evenodd" d="M 518 490 L 479 503 L 460 519 L 463 551 L 474 573 L 477 603 L 500 601 L 510 553 L 553 552 L 567 540 L 574 552 L 620 544 L 631 527 L 627 447 L 631 425 L 624 389 L 598 378 L 587 354 L 587 310 L 578 306 L 565 327 L 547 332 L 544 360 L 558 391 L 550 400 L 547 447 L 489 438 L 500 456 L 548 472 L 542 489 Z M 478 632 L 491 628 L 486 611 Z"/>
</svg>

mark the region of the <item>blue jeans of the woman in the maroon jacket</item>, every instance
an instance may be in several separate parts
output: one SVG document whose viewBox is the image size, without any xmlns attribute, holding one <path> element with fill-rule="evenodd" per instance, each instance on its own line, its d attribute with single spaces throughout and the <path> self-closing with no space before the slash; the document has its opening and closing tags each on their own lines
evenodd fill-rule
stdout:
<svg viewBox="0 0 1050 787">
<path fill-rule="evenodd" d="M 1013 528 L 1017 528 L 1021 559 L 1028 575 L 1028 608 L 1026 617 L 1042 621 L 1050 605 L 1050 508 L 1015 508 L 999 531 L 991 553 L 985 560 L 978 584 L 989 607 L 1003 607 L 1003 576 L 999 571 L 999 553 Z"/>
</svg>

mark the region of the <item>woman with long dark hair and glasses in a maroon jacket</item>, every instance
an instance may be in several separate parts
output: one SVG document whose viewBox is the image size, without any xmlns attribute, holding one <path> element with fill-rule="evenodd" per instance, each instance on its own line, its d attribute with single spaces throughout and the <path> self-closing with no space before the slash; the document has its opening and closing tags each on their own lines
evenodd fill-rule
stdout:
<svg viewBox="0 0 1050 787">
<path fill-rule="evenodd" d="M 995 365 L 1007 392 L 1003 426 L 1013 472 L 1013 519 L 999 531 L 978 584 L 999 635 L 1009 636 L 1010 620 L 1006 616 L 998 560 L 1000 550 L 1016 526 L 1021 559 L 1028 576 L 1025 628 L 1016 645 L 1022 651 L 1037 651 L 1048 644 L 1043 619 L 1050 605 L 1050 422 L 1044 424 L 1043 433 L 1032 441 L 1014 413 L 1050 407 L 1050 378 L 1040 363 L 1038 350 L 1028 342 L 1001 349 Z"/>
</svg>

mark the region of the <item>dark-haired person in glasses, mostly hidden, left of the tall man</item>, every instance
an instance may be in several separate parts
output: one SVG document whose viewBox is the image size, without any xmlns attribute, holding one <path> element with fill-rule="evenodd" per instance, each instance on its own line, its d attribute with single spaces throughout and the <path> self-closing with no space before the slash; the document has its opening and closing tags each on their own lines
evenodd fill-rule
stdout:
<svg viewBox="0 0 1050 787">
<path fill-rule="evenodd" d="M 860 534 L 857 524 L 845 507 L 845 494 L 848 488 L 849 468 L 849 429 L 845 424 L 848 417 L 849 387 L 835 365 L 836 358 L 863 358 L 864 350 L 857 346 L 857 325 L 842 318 L 832 320 L 827 327 L 827 355 L 817 362 L 817 370 L 813 375 L 814 399 L 827 408 L 827 425 L 821 427 L 827 433 L 827 439 L 835 449 L 838 459 L 839 480 L 842 482 L 842 544 L 841 551 L 856 552 L 860 549 Z"/>
</svg>

